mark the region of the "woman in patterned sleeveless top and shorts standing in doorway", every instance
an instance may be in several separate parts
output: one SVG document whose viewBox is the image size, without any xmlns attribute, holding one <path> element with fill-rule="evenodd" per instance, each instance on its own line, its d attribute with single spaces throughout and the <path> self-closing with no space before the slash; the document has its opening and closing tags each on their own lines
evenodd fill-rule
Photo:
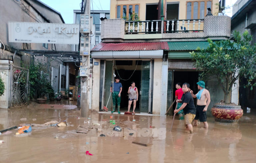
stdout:
<svg viewBox="0 0 256 163">
<path fill-rule="evenodd" d="M 132 113 L 135 114 L 134 110 L 136 107 L 136 101 L 138 101 L 139 93 L 138 93 L 138 88 L 135 86 L 135 82 L 132 81 L 131 85 L 128 88 L 128 93 L 129 93 L 129 101 L 128 101 L 128 112 L 130 112 L 131 104 L 133 101 L 133 111 Z"/>
</svg>

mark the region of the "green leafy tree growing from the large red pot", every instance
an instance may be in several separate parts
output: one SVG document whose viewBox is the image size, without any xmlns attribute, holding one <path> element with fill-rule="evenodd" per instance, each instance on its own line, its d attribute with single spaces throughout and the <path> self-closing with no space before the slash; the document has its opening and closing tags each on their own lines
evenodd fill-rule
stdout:
<svg viewBox="0 0 256 163">
<path fill-rule="evenodd" d="M 200 78 L 206 80 L 215 76 L 224 91 L 225 103 L 231 103 L 232 86 L 240 77 L 247 80 L 246 85 L 253 89 L 256 78 L 256 44 L 251 45 L 252 36 L 248 31 L 233 32 L 234 40 L 215 41 L 208 39 L 207 49 L 197 48 L 190 52 L 196 61 L 196 68 L 202 71 Z"/>
</svg>

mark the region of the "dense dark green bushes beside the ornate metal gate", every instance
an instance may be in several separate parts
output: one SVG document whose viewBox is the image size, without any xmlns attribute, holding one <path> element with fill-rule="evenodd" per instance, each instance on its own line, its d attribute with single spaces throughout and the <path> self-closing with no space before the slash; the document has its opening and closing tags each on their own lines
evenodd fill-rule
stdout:
<svg viewBox="0 0 256 163">
<path fill-rule="evenodd" d="M 49 94 L 49 97 L 54 97 L 54 91 L 51 86 L 49 71 L 46 64 L 31 63 L 29 67 L 30 81 L 30 98 L 41 97 L 42 94 Z"/>
</svg>

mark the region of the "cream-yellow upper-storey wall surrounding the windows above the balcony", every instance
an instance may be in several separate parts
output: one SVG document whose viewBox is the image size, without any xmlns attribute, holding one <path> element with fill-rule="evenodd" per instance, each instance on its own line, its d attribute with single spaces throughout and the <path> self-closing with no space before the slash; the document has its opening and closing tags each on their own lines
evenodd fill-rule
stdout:
<svg viewBox="0 0 256 163">
<path fill-rule="evenodd" d="M 167 4 L 172 2 L 179 2 L 179 19 L 186 19 L 186 2 L 188 0 L 167 0 Z M 191 0 L 189 2 L 196 1 Z M 158 4 L 159 0 L 110 0 L 110 19 L 116 18 L 116 5 L 118 4 L 140 4 L 139 17 L 140 20 L 146 20 L 146 4 Z M 165 0 L 164 0 L 165 3 Z M 212 0 L 212 14 L 218 15 L 219 9 L 215 5 L 219 3 L 218 0 Z M 165 5 L 164 5 L 165 6 Z M 185 12 L 184 12 L 185 11 Z"/>
</svg>

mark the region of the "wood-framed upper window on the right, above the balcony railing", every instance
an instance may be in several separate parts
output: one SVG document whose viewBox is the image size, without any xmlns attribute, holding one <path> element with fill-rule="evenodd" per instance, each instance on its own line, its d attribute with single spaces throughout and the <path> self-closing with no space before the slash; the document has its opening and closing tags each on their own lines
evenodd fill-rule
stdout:
<svg viewBox="0 0 256 163">
<path fill-rule="evenodd" d="M 187 1 L 186 19 L 203 19 L 207 14 L 207 8 L 212 9 L 212 1 Z"/>
</svg>

